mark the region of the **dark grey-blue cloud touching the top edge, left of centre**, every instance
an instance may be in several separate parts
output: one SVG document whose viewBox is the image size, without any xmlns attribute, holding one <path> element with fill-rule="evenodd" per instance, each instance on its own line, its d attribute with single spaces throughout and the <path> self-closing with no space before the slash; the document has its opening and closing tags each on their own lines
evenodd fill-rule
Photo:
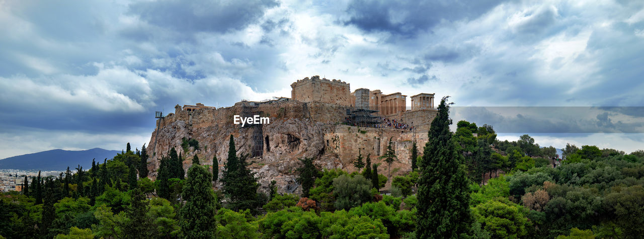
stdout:
<svg viewBox="0 0 644 239">
<path fill-rule="evenodd" d="M 256 23 L 272 0 L 254 1 L 146 1 L 130 5 L 129 12 L 147 23 L 177 32 L 228 32 Z"/>
</svg>

